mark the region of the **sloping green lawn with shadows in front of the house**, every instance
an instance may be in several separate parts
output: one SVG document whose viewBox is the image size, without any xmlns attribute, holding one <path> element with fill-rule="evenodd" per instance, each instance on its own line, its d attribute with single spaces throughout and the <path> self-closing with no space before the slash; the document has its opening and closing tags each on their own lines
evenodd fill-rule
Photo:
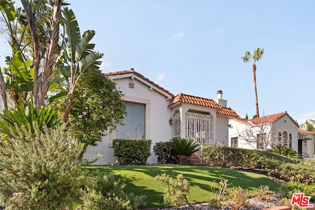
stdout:
<svg viewBox="0 0 315 210">
<path fill-rule="evenodd" d="M 252 192 L 253 189 L 261 185 L 269 185 L 270 190 L 278 191 L 279 185 L 268 177 L 250 172 L 198 166 L 102 166 L 87 167 L 93 176 L 103 176 L 112 173 L 115 180 L 121 180 L 126 184 L 125 191 L 135 195 L 147 196 L 147 205 L 140 208 L 164 207 L 163 186 L 155 177 L 162 173 L 175 178 L 178 174 L 183 174 L 190 183 L 189 202 L 206 202 L 211 197 L 211 186 L 214 180 L 218 183 L 220 179 L 227 179 L 232 183 L 228 188 L 241 186 Z"/>
</svg>

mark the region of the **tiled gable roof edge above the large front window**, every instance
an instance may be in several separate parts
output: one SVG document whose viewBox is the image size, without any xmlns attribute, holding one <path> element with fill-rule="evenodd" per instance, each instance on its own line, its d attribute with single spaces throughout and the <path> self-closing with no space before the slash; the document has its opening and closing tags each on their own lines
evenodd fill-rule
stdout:
<svg viewBox="0 0 315 210">
<path fill-rule="evenodd" d="M 124 71 L 116 71 L 116 72 L 109 72 L 109 73 L 104 73 L 104 75 L 106 77 L 117 77 L 118 78 L 126 78 L 126 77 L 132 77 L 133 75 L 137 76 L 138 78 L 142 79 L 143 81 L 151 84 L 152 86 L 156 87 L 158 90 L 161 90 L 167 94 L 169 94 L 172 98 L 174 97 L 174 95 L 172 93 L 170 93 L 168 90 L 163 89 L 162 87 L 160 87 L 158 84 L 152 82 L 151 80 L 149 80 L 148 78 L 144 77 L 143 75 L 139 74 L 138 72 L 134 71 L 134 70 L 124 70 Z"/>
</svg>

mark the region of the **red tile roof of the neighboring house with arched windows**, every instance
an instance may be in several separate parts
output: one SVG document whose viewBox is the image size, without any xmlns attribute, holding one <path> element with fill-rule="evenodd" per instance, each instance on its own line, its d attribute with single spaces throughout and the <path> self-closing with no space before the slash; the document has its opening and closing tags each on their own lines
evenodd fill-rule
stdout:
<svg viewBox="0 0 315 210">
<path fill-rule="evenodd" d="M 287 114 L 287 112 L 280 112 L 280 113 L 277 113 L 277 114 L 273 114 L 273 115 L 267 115 L 267 116 L 263 116 L 263 117 L 259 117 L 259 118 L 254 118 L 252 120 L 246 120 L 246 119 L 242 119 L 242 118 L 235 118 L 233 120 L 235 121 L 238 121 L 238 122 L 241 122 L 243 124 L 247 124 L 247 125 L 251 125 L 251 124 L 254 124 L 254 125 L 258 125 L 258 124 L 261 124 L 263 122 L 274 122 L 276 120 L 279 120 L 280 118 L 284 117 L 284 116 L 288 116 L 290 120 L 292 120 L 294 122 L 294 124 L 296 124 L 298 127 L 299 124 L 293 120 L 289 114 Z"/>
</svg>

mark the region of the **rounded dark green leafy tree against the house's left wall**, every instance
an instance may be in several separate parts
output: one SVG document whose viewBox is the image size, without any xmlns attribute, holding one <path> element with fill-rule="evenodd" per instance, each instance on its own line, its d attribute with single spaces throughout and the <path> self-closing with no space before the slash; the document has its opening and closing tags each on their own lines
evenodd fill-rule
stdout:
<svg viewBox="0 0 315 210">
<path fill-rule="evenodd" d="M 104 131 L 114 130 L 126 115 L 122 91 L 98 69 L 78 80 L 73 96 L 71 136 L 83 143 L 85 149 L 88 145 L 96 146 Z"/>
</svg>

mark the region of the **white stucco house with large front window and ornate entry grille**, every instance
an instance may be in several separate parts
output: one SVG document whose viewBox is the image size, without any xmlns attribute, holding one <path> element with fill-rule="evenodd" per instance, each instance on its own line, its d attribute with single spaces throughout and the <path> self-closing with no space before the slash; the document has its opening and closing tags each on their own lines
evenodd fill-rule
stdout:
<svg viewBox="0 0 315 210">
<path fill-rule="evenodd" d="M 124 125 L 117 125 L 112 133 L 104 136 L 97 147 L 88 147 L 85 158 L 102 157 L 95 165 L 116 162 L 112 142 L 114 139 L 151 139 L 149 163 L 157 163 L 153 146 L 172 137 L 192 137 L 200 144 L 228 145 L 228 120 L 239 117 L 227 108 L 222 91 L 216 100 L 179 93 L 173 95 L 133 69 L 105 76 L 123 91 L 126 104 Z"/>
</svg>

